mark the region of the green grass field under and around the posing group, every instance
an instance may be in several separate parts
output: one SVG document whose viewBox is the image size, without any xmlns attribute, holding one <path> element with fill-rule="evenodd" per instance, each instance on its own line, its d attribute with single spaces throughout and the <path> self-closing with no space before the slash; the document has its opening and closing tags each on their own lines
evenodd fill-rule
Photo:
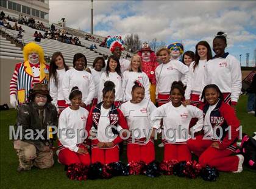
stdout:
<svg viewBox="0 0 256 189">
<path fill-rule="evenodd" d="M 237 115 L 243 125 L 243 132 L 252 136 L 256 131 L 256 118 L 246 112 L 246 96 L 241 96 L 237 107 Z M 14 125 L 16 111 L 1 111 L 1 188 L 256 188 L 256 171 L 244 167 L 242 173 L 221 172 L 216 182 L 187 179 L 177 176 L 119 176 L 105 180 L 69 180 L 63 165 L 56 161 L 54 167 L 47 170 L 32 168 L 30 171 L 17 173 L 18 157 L 9 140 L 9 125 Z M 156 144 L 157 145 L 157 144 Z M 156 158 L 162 160 L 163 148 L 156 147 Z M 126 153 L 121 156 L 126 162 Z"/>
</svg>

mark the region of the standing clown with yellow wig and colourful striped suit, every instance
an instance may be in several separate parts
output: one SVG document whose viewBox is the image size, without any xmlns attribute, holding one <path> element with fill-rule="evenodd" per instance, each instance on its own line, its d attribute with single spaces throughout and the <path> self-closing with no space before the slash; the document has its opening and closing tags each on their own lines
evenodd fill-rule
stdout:
<svg viewBox="0 0 256 189">
<path fill-rule="evenodd" d="M 13 108 L 27 102 L 29 90 L 35 83 L 48 84 L 49 66 L 45 64 L 42 47 L 36 43 L 29 43 L 23 49 L 24 62 L 15 66 L 10 81 L 10 105 Z"/>
</svg>

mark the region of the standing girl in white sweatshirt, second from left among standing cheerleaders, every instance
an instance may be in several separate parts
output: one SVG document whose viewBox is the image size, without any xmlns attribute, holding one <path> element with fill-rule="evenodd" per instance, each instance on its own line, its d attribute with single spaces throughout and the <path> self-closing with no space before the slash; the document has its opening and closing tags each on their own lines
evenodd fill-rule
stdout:
<svg viewBox="0 0 256 189">
<path fill-rule="evenodd" d="M 70 105 L 69 93 L 74 86 L 77 86 L 82 92 L 82 103 L 80 106 L 90 110 L 90 104 L 93 101 L 95 87 L 93 77 L 85 71 L 87 59 L 82 53 L 76 53 L 73 59 L 73 69 L 69 69 L 63 76 L 62 86 L 66 104 Z"/>
</svg>

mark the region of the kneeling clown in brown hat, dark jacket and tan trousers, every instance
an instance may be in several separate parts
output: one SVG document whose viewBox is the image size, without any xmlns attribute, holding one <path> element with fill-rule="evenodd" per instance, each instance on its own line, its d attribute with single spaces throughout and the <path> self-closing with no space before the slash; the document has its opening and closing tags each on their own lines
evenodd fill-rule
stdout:
<svg viewBox="0 0 256 189">
<path fill-rule="evenodd" d="M 17 168 L 19 173 L 30 170 L 34 165 L 41 169 L 54 165 L 53 136 L 49 136 L 48 131 L 50 125 L 58 125 L 58 118 L 51 101 L 47 84 L 36 83 L 30 90 L 29 102 L 18 108 L 15 129 L 17 132 L 21 129 L 21 132 L 18 139 L 13 141 L 13 148 L 20 162 Z M 33 138 L 26 137 L 29 130 Z"/>
</svg>

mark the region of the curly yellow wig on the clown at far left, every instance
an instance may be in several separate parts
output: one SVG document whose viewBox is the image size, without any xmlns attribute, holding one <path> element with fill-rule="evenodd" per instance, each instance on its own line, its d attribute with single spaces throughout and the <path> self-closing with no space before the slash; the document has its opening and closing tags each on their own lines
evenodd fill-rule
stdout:
<svg viewBox="0 0 256 189">
<path fill-rule="evenodd" d="M 45 63 L 43 48 L 34 42 L 26 44 L 23 48 L 23 57 L 25 62 L 29 60 L 29 53 L 32 52 L 37 52 L 39 55 L 39 62 Z"/>
</svg>

